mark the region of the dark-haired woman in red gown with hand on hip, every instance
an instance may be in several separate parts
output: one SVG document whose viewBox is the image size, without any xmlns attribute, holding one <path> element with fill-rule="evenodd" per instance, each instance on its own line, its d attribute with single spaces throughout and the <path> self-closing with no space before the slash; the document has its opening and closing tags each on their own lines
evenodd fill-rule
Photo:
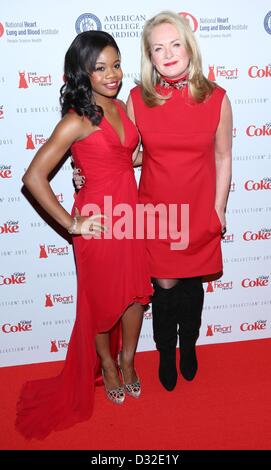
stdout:
<svg viewBox="0 0 271 470">
<path fill-rule="evenodd" d="M 127 393 L 140 395 L 134 355 L 153 290 L 145 242 L 133 232 L 138 202 L 133 152 L 139 137 L 125 105 L 114 99 L 121 80 L 114 39 L 102 31 L 79 34 L 65 56 L 63 119 L 23 177 L 43 209 L 73 235 L 77 267 L 76 321 L 64 369 L 57 377 L 27 382 L 18 402 L 16 426 L 27 438 L 44 438 L 88 419 L 101 369 L 112 402 L 123 403 Z M 48 182 L 70 148 L 86 178 L 72 215 Z M 132 213 L 129 236 L 123 236 L 124 206 Z M 116 364 L 119 352 L 123 381 Z"/>
</svg>

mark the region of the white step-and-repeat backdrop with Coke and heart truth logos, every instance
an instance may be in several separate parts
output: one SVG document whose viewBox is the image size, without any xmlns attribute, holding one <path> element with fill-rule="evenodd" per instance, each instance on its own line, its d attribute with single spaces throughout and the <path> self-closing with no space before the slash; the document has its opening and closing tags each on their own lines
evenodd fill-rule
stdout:
<svg viewBox="0 0 271 470">
<path fill-rule="evenodd" d="M 206 282 L 198 344 L 271 336 L 271 4 L 247 0 L 2 0 L 0 9 L 0 363 L 65 357 L 76 307 L 72 246 L 22 192 L 21 177 L 60 118 L 63 59 L 75 35 L 103 29 L 122 51 L 125 100 L 139 77 L 146 19 L 165 8 L 189 18 L 204 71 L 234 113 L 233 180 L 224 273 Z M 137 174 L 139 177 L 139 173 Z M 73 204 L 69 161 L 52 186 Z M 91 281 L 90 281 L 91 284 Z M 105 293 L 106 295 L 106 293 Z M 146 313 L 139 351 L 154 349 Z"/>
</svg>

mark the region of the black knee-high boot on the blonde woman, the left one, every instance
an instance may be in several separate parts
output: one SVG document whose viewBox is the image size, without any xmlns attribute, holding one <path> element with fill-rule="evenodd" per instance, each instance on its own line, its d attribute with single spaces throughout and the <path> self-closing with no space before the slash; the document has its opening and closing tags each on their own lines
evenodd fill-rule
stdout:
<svg viewBox="0 0 271 470">
<path fill-rule="evenodd" d="M 156 281 L 154 282 L 154 295 L 152 299 L 153 336 L 160 353 L 159 379 L 168 391 L 173 390 L 177 382 L 178 304 L 178 285 L 170 289 L 164 289 Z"/>
</svg>

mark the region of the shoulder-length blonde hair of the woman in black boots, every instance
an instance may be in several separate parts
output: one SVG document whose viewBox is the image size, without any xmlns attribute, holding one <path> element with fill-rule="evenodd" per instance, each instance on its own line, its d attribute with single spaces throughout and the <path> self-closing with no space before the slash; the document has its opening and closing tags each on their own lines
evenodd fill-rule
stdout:
<svg viewBox="0 0 271 470">
<path fill-rule="evenodd" d="M 138 84 L 142 88 L 144 102 L 152 107 L 162 104 L 171 95 L 160 95 L 155 86 L 160 82 L 161 75 L 151 61 L 150 35 L 155 26 L 168 23 L 177 29 L 190 59 L 188 69 L 188 89 L 196 102 L 202 102 L 210 95 L 215 84 L 208 80 L 202 71 L 201 54 L 188 20 L 172 11 L 162 11 L 145 23 L 141 39 L 141 78 Z"/>
</svg>

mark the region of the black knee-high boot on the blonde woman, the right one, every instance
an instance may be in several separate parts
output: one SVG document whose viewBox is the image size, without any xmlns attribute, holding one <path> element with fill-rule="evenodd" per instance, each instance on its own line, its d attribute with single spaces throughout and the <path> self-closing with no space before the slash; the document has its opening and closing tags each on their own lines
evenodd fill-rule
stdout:
<svg viewBox="0 0 271 470">
<path fill-rule="evenodd" d="M 197 373 L 196 341 L 199 336 L 204 290 L 201 277 L 181 279 L 181 308 L 179 310 L 180 371 L 186 380 L 193 380 Z"/>
</svg>

